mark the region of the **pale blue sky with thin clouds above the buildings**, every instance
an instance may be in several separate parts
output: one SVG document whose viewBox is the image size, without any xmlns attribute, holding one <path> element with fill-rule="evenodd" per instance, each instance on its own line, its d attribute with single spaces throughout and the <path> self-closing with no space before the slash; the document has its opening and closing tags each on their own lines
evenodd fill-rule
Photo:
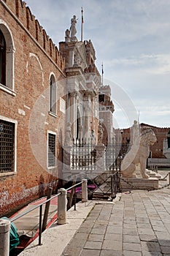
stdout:
<svg viewBox="0 0 170 256">
<path fill-rule="evenodd" d="M 134 119 L 170 127 L 170 1 L 26 0 L 55 45 L 76 15 L 77 39 L 91 39 L 96 66 L 112 89 L 115 128 Z"/>
</svg>

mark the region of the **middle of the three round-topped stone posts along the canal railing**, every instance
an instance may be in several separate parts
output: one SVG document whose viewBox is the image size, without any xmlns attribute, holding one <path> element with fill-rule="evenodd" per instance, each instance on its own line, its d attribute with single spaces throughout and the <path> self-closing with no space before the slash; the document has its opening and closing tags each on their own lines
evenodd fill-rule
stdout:
<svg viewBox="0 0 170 256">
<path fill-rule="evenodd" d="M 58 195 L 58 224 L 66 224 L 66 189 L 59 189 L 61 195 Z"/>
</svg>

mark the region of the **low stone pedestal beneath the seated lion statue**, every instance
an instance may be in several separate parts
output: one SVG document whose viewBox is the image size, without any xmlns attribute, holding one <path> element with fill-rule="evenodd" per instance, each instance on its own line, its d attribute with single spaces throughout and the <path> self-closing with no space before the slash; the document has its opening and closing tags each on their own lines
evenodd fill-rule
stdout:
<svg viewBox="0 0 170 256">
<path fill-rule="evenodd" d="M 123 178 L 123 180 L 120 179 L 123 191 L 137 189 L 158 189 L 158 178 Z"/>
</svg>

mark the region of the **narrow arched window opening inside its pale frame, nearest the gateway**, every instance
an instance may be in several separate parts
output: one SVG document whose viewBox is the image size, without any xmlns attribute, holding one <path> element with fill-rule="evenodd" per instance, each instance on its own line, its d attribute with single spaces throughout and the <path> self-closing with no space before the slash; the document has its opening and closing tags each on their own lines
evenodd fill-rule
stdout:
<svg viewBox="0 0 170 256">
<path fill-rule="evenodd" d="M 56 115 L 57 109 L 57 85 L 54 75 L 50 76 L 50 112 Z"/>
</svg>

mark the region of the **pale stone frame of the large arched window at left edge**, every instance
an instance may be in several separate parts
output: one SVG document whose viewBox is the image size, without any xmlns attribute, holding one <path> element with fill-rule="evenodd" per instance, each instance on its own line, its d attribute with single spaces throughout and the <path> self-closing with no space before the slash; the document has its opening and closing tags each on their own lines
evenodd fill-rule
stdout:
<svg viewBox="0 0 170 256">
<path fill-rule="evenodd" d="M 0 83 L 0 89 L 6 91 L 13 96 L 16 96 L 15 92 L 15 75 L 14 75 L 14 59 L 15 59 L 15 44 L 7 23 L 0 19 L 0 29 L 4 34 L 6 42 L 6 83 Z"/>
</svg>

